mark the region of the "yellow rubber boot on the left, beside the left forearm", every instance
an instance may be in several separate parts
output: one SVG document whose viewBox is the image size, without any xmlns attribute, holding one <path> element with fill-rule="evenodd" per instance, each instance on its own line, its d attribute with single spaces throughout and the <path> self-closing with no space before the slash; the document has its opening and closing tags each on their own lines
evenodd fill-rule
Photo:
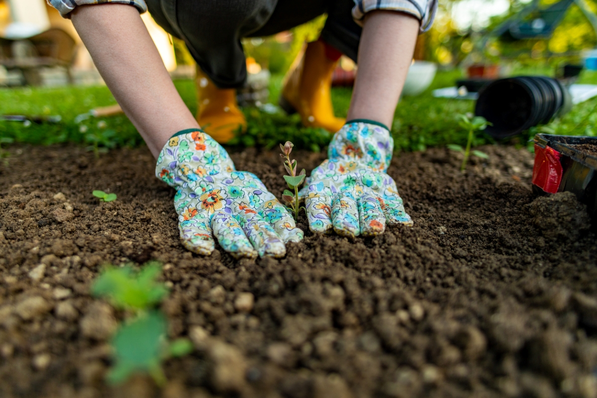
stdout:
<svg viewBox="0 0 597 398">
<path fill-rule="evenodd" d="M 220 144 L 225 144 L 240 128 L 247 129 L 245 115 L 236 103 L 236 89 L 217 88 L 214 82 L 197 67 L 197 122 Z"/>
</svg>

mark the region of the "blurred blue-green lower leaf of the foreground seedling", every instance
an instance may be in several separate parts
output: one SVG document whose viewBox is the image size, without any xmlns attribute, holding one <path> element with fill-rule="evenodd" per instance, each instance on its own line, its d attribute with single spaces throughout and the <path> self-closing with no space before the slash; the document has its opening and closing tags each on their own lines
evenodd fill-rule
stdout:
<svg viewBox="0 0 597 398">
<path fill-rule="evenodd" d="M 165 381 L 160 368 L 167 321 L 152 311 L 125 323 L 112 339 L 115 366 L 107 375 L 110 384 L 125 381 L 133 372 L 147 372 L 158 384 Z"/>
</svg>

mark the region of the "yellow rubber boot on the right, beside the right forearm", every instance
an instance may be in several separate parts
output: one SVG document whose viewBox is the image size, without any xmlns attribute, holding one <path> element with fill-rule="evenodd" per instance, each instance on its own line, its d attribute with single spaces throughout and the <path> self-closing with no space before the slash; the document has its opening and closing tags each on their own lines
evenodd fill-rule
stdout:
<svg viewBox="0 0 597 398">
<path fill-rule="evenodd" d="M 327 57 L 324 42 L 308 43 L 284 78 L 279 100 L 282 109 L 289 114 L 298 112 L 307 127 L 338 131 L 346 120 L 336 118 L 332 107 L 330 89 L 336 63 Z"/>
</svg>

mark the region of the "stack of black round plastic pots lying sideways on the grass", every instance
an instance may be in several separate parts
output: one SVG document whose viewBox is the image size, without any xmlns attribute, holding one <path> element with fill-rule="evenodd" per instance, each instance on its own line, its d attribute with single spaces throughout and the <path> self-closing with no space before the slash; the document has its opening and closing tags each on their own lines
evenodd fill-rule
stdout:
<svg viewBox="0 0 597 398">
<path fill-rule="evenodd" d="M 498 79 L 479 91 L 475 114 L 493 124 L 485 130 L 494 138 L 520 134 L 572 107 L 568 90 L 556 79 L 518 76 Z"/>
</svg>

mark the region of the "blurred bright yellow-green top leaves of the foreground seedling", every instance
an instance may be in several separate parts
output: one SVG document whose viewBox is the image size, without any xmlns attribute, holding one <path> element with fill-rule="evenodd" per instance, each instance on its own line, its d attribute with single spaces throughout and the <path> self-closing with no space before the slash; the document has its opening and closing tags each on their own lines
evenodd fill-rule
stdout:
<svg viewBox="0 0 597 398">
<path fill-rule="evenodd" d="M 106 297 L 116 308 L 146 310 L 158 304 L 168 289 L 156 278 L 161 272 L 157 263 L 147 264 L 139 273 L 130 266 L 108 267 L 91 286 L 97 297 Z"/>
</svg>

